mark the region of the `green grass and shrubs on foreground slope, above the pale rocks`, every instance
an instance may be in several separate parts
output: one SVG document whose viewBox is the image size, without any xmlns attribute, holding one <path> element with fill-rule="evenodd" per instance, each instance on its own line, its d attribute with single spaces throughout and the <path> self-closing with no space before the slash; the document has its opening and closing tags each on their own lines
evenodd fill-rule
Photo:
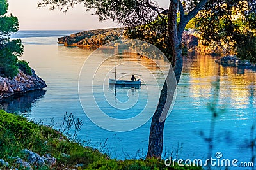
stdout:
<svg viewBox="0 0 256 170">
<path fill-rule="evenodd" d="M 79 163 L 87 166 L 96 160 L 108 158 L 98 150 L 69 141 L 49 126 L 35 124 L 27 118 L 0 110 L 0 157 L 9 163 L 13 161 L 10 157 L 24 159 L 23 149 L 40 155 L 50 153 L 58 159 L 56 166 L 74 166 Z M 70 155 L 70 158 L 62 157 L 61 153 Z"/>
</svg>

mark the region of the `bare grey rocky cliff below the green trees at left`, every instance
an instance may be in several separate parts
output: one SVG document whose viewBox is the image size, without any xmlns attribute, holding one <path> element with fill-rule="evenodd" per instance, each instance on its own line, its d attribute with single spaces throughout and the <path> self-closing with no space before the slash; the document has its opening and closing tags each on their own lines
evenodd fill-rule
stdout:
<svg viewBox="0 0 256 170">
<path fill-rule="evenodd" d="M 0 77 L 0 99 L 12 96 L 13 94 L 47 87 L 45 81 L 38 77 L 33 69 L 31 69 L 31 76 L 24 74 L 20 69 L 18 71 L 17 76 L 12 79 Z"/>
</svg>

